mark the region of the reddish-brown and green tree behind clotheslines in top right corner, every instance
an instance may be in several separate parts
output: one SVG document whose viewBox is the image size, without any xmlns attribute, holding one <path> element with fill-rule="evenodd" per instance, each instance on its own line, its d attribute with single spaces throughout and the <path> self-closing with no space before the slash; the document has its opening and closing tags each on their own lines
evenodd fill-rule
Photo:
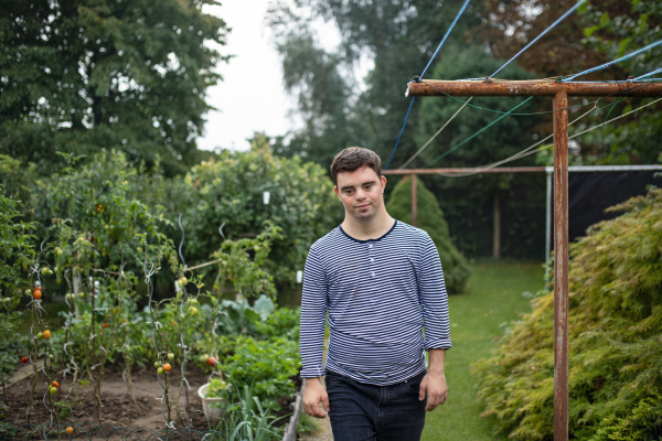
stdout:
<svg viewBox="0 0 662 441">
<path fill-rule="evenodd" d="M 488 1 L 482 24 L 482 36 L 498 57 L 510 57 L 523 47 L 575 1 L 513 0 Z M 524 52 L 519 63 L 541 77 L 570 75 L 608 61 L 619 58 L 662 39 L 662 1 L 594 0 L 554 28 L 544 39 Z M 659 67 L 662 49 L 654 47 L 630 61 L 613 64 L 578 79 L 626 79 L 652 72 Z M 605 99 L 602 104 L 615 103 Z M 629 98 L 624 106 L 592 112 L 570 130 L 602 122 L 630 111 L 647 101 Z M 652 106 L 641 114 L 626 117 L 598 131 L 588 133 L 579 143 L 577 164 L 628 164 L 661 161 L 656 146 L 662 141 L 661 106 Z M 551 122 L 545 125 L 552 127 Z M 547 129 L 551 130 L 551 129 Z M 551 132 L 551 131 L 549 131 Z M 551 164 L 552 155 L 544 152 L 538 162 Z"/>
</svg>

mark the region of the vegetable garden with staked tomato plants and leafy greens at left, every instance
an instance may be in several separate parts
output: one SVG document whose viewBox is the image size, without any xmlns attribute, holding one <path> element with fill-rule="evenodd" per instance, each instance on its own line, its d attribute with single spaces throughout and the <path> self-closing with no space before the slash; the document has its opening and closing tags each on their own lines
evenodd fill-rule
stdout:
<svg viewBox="0 0 662 441">
<path fill-rule="evenodd" d="M 122 399 L 134 399 L 131 373 L 150 369 L 162 387 L 154 398 L 166 428 L 200 429 L 192 426 L 196 390 L 186 378 L 195 368 L 211 379 L 207 396 L 223 398 L 225 417 L 212 427 L 245 439 L 277 437 L 300 368 L 298 311 L 276 306 L 278 281 L 269 270 L 274 244 L 286 241 L 278 216 L 260 219 L 255 234 L 226 237 L 232 228 L 214 228 L 221 246 L 189 267 L 195 237 L 182 215 L 171 220 L 163 206 L 131 197 L 131 169 L 108 168 L 121 155 L 82 166 L 66 160 L 40 196 L 53 214 L 47 225 L 24 222 L 22 201 L 0 196 L 10 251 L 2 257 L 2 385 L 22 364 L 32 374 L 30 405 L 20 421 L 7 422 L 53 423 L 72 434 L 71 415 L 85 390 L 94 394 L 85 422 L 104 422 L 104 374 L 113 366 L 122 373 Z M 36 420 L 40 406 L 47 421 Z"/>
</svg>

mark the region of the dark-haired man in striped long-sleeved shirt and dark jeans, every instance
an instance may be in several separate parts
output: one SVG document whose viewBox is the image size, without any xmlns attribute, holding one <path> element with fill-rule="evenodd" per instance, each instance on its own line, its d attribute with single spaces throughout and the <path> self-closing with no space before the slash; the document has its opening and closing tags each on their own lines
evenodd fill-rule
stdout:
<svg viewBox="0 0 662 441">
<path fill-rule="evenodd" d="M 322 404 L 337 441 L 419 440 L 425 411 L 444 404 L 448 391 L 444 358 L 451 344 L 439 254 L 427 233 L 386 213 L 386 178 L 374 152 L 343 150 L 331 174 L 345 218 L 306 260 L 303 409 L 324 418 Z"/>
</svg>

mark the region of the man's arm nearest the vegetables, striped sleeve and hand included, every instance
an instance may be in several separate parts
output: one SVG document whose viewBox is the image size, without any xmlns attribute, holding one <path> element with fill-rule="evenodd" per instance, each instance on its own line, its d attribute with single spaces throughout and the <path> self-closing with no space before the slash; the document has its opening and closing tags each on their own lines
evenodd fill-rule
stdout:
<svg viewBox="0 0 662 441">
<path fill-rule="evenodd" d="M 303 410 L 311 417 L 324 418 L 319 404 L 329 411 L 327 390 L 320 381 L 324 375 L 322 354 L 324 349 L 324 323 L 327 321 L 327 280 L 322 265 L 311 248 L 306 258 L 303 290 L 301 295 L 300 351 L 301 377 L 306 381 Z"/>
</svg>

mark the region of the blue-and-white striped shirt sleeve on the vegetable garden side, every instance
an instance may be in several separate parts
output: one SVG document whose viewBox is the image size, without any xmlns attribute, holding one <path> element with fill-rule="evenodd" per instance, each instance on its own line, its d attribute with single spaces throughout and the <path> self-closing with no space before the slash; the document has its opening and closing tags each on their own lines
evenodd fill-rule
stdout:
<svg viewBox="0 0 662 441">
<path fill-rule="evenodd" d="M 327 321 L 327 277 L 319 257 L 311 248 L 303 269 L 301 295 L 300 351 L 302 378 L 324 375 L 322 353 L 324 348 L 324 323 Z"/>
</svg>

